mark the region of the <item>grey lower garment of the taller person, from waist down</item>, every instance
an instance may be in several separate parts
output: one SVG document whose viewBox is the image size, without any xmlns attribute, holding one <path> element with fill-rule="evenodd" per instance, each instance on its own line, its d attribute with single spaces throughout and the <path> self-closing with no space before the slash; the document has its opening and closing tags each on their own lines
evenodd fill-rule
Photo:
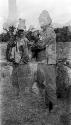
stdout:
<svg viewBox="0 0 71 125">
<path fill-rule="evenodd" d="M 56 73 L 53 65 L 38 64 L 37 83 L 41 91 L 47 93 L 47 99 L 56 104 Z"/>
</svg>

